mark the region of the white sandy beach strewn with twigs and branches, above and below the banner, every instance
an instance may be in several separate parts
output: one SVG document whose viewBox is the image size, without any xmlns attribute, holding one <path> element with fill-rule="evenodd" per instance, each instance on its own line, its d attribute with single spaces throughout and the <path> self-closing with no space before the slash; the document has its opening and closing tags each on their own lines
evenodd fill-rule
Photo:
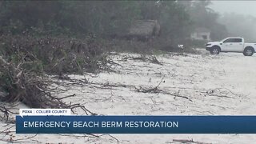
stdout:
<svg viewBox="0 0 256 144">
<path fill-rule="evenodd" d="M 139 56 L 111 55 L 114 62 L 120 64 L 113 67 L 117 72 L 69 75 L 74 79 L 86 78 L 94 84 L 63 87 L 67 91 L 60 96 L 76 94 L 64 101 L 80 103 L 88 110 L 104 115 L 256 114 L 256 54 L 252 57 L 232 53 L 158 55 L 162 65 L 131 58 Z M 134 88 L 139 86 L 158 86 L 159 90 L 169 94 L 139 93 Z M 187 97 L 191 101 L 174 95 Z M 15 106 L 16 110 L 21 107 L 26 106 Z M 76 112 L 78 115 L 84 114 L 82 110 Z M 0 131 L 10 126 L 1 122 Z M 82 134 L 38 134 L 29 138 L 34 134 L 15 134 L 15 127 L 10 130 L 14 142 L 22 143 L 179 143 L 173 142 L 174 139 L 193 139 L 192 143 L 256 142 L 256 134 L 111 134 L 114 138 L 109 135 L 90 138 Z M 1 138 L 8 141 L 10 134 L 0 133 L 0 143 Z M 20 138 L 22 140 L 18 140 Z"/>
</svg>

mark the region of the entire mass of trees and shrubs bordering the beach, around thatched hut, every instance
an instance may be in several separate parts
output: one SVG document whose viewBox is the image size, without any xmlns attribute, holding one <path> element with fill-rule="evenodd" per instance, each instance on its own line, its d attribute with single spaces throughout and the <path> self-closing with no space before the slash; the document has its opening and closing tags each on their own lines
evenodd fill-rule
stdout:
<svg viewBox="0 0 256 144">
<path fill-rule="evenodd" d="M 209 4 L 208 0 L 1 1 L 0 90 L 6 95 L 0 100 L 65 107 L 49 93 L 45 74 L 62 78 L 109 70 L 113 62 L 107 52 L 113 50 L 174 51 L 178 44 L 190 44 L 187 39 L 198 26 L 218 32 L 212 38 L 222 37 L 225 27 L 216 22 L 218 14 L 207 8 Z M 138 20 L 154 20 L 150 22 L 159 23 L 161 33 L 142 41 L 123 37 Z"/>
</svg>

